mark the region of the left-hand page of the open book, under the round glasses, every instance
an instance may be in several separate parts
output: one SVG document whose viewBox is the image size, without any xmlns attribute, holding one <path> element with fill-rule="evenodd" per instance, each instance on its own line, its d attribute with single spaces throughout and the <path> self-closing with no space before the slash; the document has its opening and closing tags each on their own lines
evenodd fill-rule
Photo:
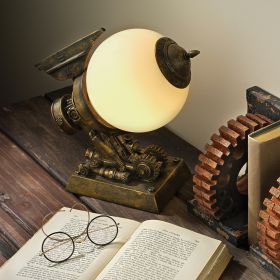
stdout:
<svg viewBox="0 0 280 280">
<path fill-rule="evenodd" d="M 47 234 L 56 231 L 75 235 L 88 223 L 86 211 L 62 208 L 44 226 Z M 98 214 L 90 213 L 90 218 Z M 109 245 L 97 246 L 86 237 L 82 243 L 75 242 L 72 257 L 63 263 L 52 263 L 41 254 L 45 235 L 39 230 L 9 261 L 0 268 L 0 279 L 13 280 L 75 280 L 95 279 L 117 251 L 139 226 L 136 221 L 114 217 L 119 223 L 117 238 Z M 63 252 L 61 252 L 63 253 Z"/>
</svg>

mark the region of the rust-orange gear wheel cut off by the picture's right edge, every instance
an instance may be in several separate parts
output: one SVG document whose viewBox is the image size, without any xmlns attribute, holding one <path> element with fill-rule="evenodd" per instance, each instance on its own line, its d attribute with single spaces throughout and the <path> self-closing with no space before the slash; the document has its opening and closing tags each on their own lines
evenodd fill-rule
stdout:
<svg viewBox="0 0 280 280">
<path fill-rule="evenodd" d="M 257 238 L 262 252 L 280 267 L 280 178 L 278 184 L 278 188 L 272 187 L 269 191 L 272 197 L 263 202 L 266 210 L 259 214 Z"/>
</svg>

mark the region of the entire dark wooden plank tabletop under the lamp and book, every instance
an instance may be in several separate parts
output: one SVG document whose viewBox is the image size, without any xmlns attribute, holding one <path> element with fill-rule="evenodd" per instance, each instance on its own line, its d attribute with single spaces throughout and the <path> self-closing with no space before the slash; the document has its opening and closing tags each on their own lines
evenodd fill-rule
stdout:
<svg viewBox="0 0 280 280">
<path fill-rule="evenodd" d="M 83 133 L 63 134 L 51 119 L 50 101 L 65 91 L 69 88 L 0 108 L 0 193 L 9 196 L 3 200 L 0 194 L 0 265 L 41 227 L 46 214 L 71 207 L 76 201 L 93 212 L 137 221 L 164 220 L 223 240 L 188 213 L 185 200 L 191 195 L 191 180 L 159 215 L 66 192 L 67 179 L 90 144 Z M 199 151 L 166 128 L 137 138 L 143 144 L 160 144 L 170 154 L 184 158 L 193 171 Z M 221 279 L 275 279 L 247 250 L 223 241 L 234 260 Z"/>
</svg>

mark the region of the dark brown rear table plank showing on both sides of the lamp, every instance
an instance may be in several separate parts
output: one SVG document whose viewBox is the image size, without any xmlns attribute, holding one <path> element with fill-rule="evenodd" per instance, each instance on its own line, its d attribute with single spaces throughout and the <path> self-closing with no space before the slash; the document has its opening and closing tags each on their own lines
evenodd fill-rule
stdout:
<svg viewBox="0 0 280 280">
<path fill-rule="evenodd" d="M 63 185 L 91 146 L 84 133 L 69 136 L 59 130 L 51 117 L 50 101 L 43 97 L 0 108 L 0 129 Z M 183 158 L 189 169 L 194 170 L 199 150 L 168 129 L 135 134 L 135 137 L 143 146 L 161 145 L 170 155 Z M 192 196 L 191 188 L 190 178 L 188 188 L 180 189 L 180 196 L 185 199 Z"/>
</svg>

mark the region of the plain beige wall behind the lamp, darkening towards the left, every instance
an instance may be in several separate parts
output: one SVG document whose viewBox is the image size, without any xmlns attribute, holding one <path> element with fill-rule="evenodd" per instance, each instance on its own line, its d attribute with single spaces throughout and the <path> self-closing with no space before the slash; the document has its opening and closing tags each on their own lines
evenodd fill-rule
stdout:
<svg viewBox="0 0 280 280">
<path fill-rule="evenodd" d="M 279 1 L 2 2 L 1 104 L 65 86 L 34 64 L 100 27 L 106 36 L 148 28 L 201 51 L 188 102 L 169 125 L 200 149 L 219 126 L 246 112 L 246 88 L 258 85 L 280 96 Z"/>
</svg>

